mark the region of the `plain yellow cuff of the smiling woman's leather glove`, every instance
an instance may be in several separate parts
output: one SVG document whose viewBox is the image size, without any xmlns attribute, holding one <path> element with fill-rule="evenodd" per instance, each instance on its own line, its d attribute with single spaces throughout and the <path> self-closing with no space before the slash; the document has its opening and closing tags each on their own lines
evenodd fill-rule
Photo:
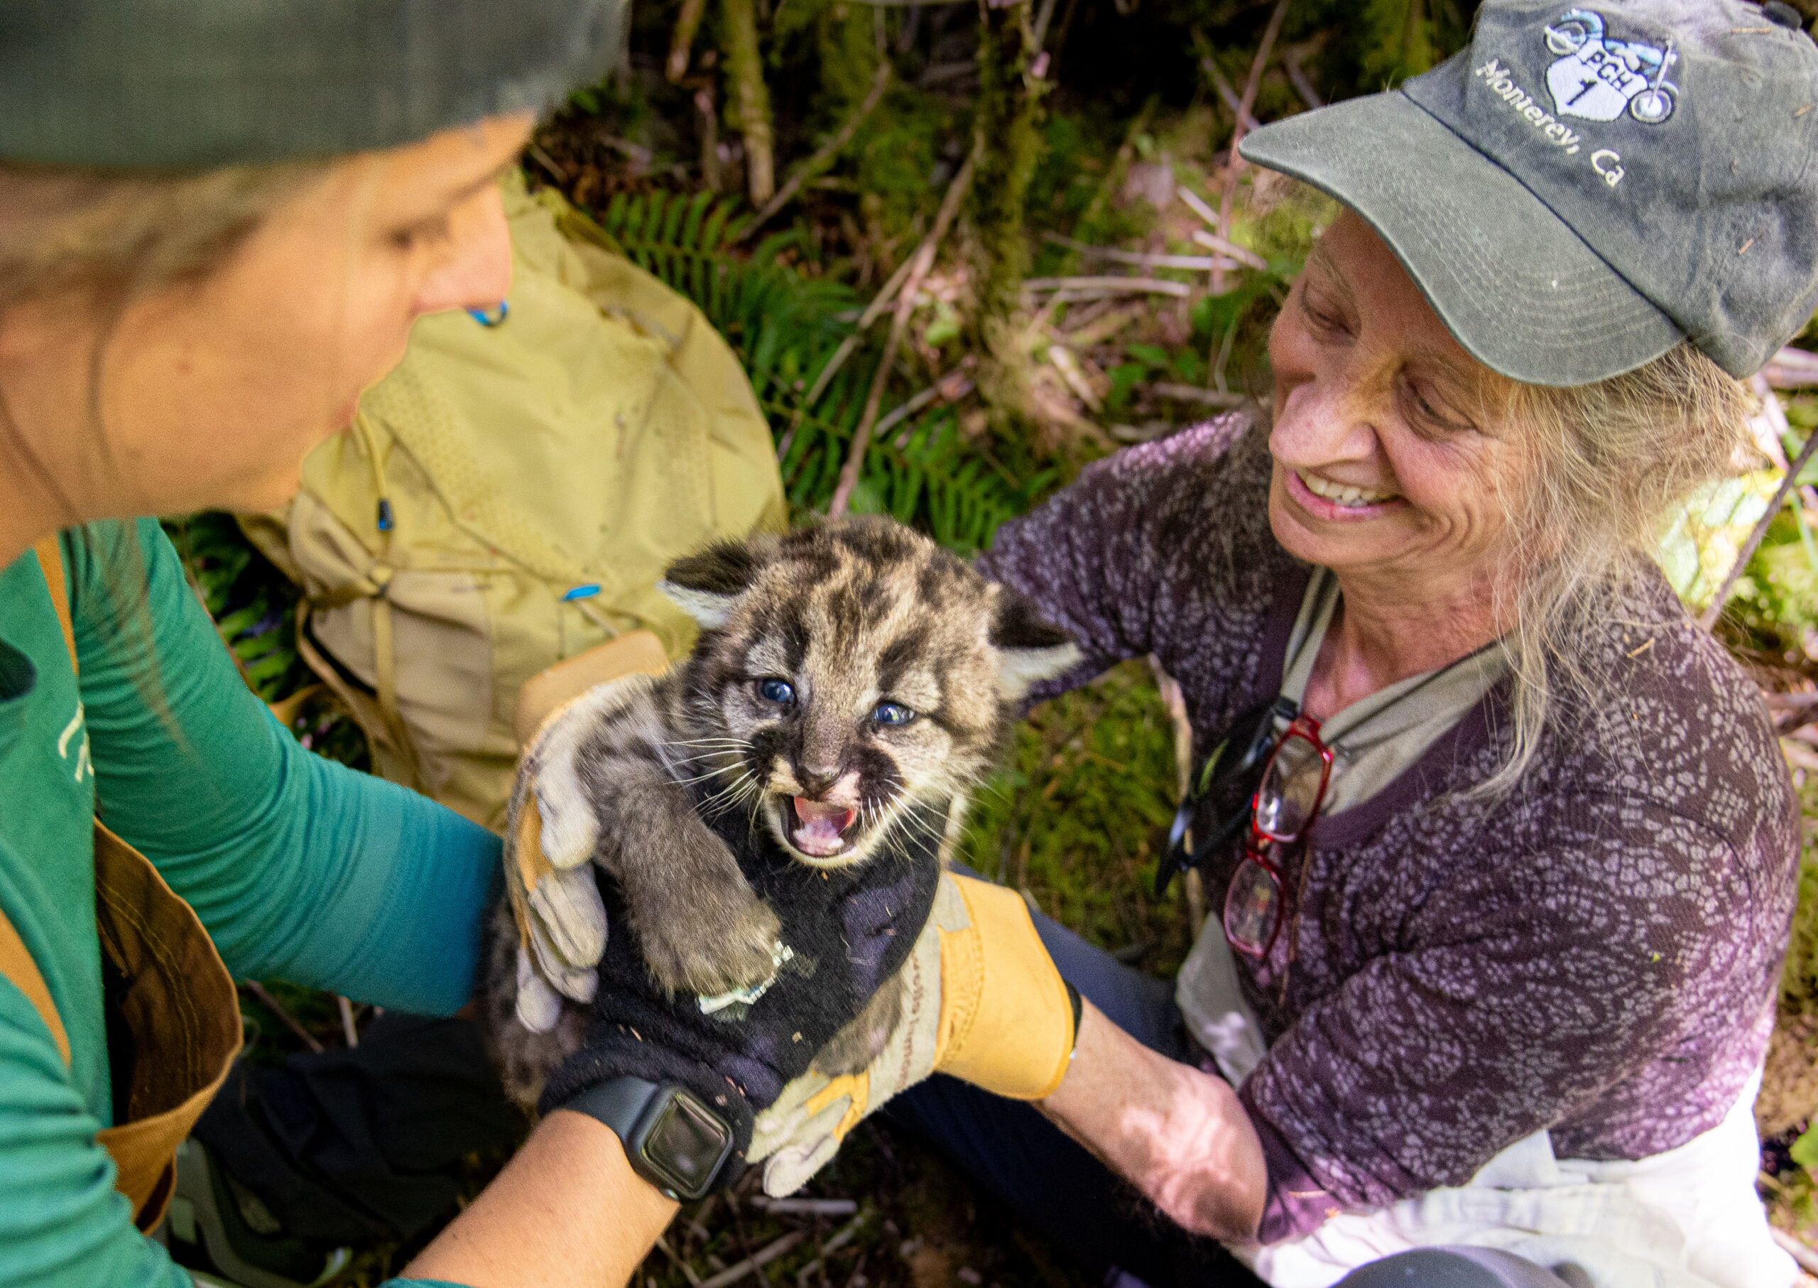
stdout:
<svg viewBox="0 0 1818 1288">
<path fill-rule="evenodd" d="M 1053 1095 L 1073 1059 L 1067 984 L 1022 895 L 971 877 L 951 880 L 973 924 L 940 931 L 934 1068 L 1016 1101 Z"/>
</svg>

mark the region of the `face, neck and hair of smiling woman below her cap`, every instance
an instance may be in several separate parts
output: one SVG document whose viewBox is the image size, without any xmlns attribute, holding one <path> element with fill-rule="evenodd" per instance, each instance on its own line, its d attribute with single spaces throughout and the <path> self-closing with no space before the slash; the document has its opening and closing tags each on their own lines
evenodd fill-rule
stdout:
<svg viewBox="0 0 1818 1288">
<path fill-rule="evenodd" d="M 1503 377 L 1453 337 L 1353 211 L 1269 338 L 1269 520 L 1347 586 L 1305 708 L 1327 717 L 1500 640 L 1509 790 L 1556 702 L 1598 709 L 1578 640 L 1633 591 L 1671 506 L 1723 477 L 1753 395 L 1691 344 L 1589 386 Z"/>
</svg>

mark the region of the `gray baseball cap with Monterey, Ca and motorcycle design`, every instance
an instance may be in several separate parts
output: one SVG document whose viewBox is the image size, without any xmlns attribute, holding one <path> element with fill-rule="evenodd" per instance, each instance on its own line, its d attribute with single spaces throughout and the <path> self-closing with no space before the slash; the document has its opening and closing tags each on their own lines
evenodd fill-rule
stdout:
<svg viewBox="0 0 1818 1288">
<path fill-rule="evenodd" d="M 1354 209 L 1527 384 L 1691 340 L 1753 375 L 1818 306 L 1818 45 L 1783 4 L 1485 0 L 1402 89 L 1247 135 Z"/>
</svg>

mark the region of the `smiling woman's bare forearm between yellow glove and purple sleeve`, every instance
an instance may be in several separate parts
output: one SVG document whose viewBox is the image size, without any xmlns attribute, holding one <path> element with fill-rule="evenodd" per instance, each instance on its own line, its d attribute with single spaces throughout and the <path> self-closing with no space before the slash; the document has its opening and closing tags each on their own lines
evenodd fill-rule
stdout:
<svg viewBox="0 0 1818 1288">
<path fill-rule="evenodd" d="M 1267 1166 L 1224 1081 L 1151 1052 L 1087 1002 L 1073 1066 L 1038 1108 L 1193 1233 L 1256 1237 Z"/>
</svg>

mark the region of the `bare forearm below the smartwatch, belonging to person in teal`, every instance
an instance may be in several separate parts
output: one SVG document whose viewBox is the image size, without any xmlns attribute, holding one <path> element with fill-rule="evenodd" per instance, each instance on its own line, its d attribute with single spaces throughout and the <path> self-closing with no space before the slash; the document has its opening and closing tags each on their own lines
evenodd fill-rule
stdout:
<svg viewBox="0 0 1818 1288">
<path fill-rule="evenodd" d="M 674 1213 L 609 1126 L 558 1110 L 404 1273 L 473 1288 L 605 1288 L 631 1277 Z"/>
</svg>

